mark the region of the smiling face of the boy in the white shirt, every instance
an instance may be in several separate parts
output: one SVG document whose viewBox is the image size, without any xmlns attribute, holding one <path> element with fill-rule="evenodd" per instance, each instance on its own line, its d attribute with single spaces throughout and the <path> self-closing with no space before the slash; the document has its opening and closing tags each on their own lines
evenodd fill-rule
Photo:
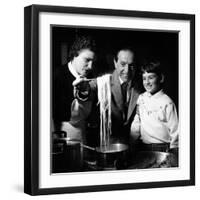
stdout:
<svg viewBox="0 0 200 200">
<path fill-rule="evenodd" d="M 156 73 L 145 72 L 142 75 L 143 86 L 151 94 L 155 94 L 161 89 L 161 79 Z"/>
</svg>

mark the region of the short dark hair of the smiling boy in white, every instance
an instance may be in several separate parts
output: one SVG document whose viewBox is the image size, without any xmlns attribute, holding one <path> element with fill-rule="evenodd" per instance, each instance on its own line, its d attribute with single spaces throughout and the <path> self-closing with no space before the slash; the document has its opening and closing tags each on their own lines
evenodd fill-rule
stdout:
<svg viewBox="0 0 200 200">
<path fill-rule="evenodd" d="M 141 73 L 143 74 L 145 72 L 155 73 L 159 77 L 163 75 L 161 64 L 158 60 L 149 61 L 149 62 L 146 62 L 144 65 L 142 65 Z"/>
</svg>

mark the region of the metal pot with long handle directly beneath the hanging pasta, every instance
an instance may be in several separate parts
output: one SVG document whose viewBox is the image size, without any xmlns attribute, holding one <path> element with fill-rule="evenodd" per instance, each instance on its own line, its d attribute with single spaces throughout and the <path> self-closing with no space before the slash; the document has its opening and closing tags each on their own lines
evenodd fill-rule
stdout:
<svg viewBox="0 0 200 200">
<path fill-rule="evenodd" d="M 96 152 L 97 165 L 103 169 L 122 169 L 127 165 L 128 145 L 123 143 L 114 143 L 108 146 L 92 148 L 82 145 L 84 148 Z"/>
</svg>

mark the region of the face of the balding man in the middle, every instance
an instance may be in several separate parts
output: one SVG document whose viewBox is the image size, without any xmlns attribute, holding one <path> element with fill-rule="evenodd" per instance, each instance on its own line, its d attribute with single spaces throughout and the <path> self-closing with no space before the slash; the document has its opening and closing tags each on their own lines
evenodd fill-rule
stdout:
<svg viewBox="0 0 200 200">
<path fill-rule="evenodd" d="M 131 80 L 135 75 L 134 54 L 130 50 L 121 50 L 118 59 L 114 60 L 115 68 L 123 82 Z"/>
</svg>

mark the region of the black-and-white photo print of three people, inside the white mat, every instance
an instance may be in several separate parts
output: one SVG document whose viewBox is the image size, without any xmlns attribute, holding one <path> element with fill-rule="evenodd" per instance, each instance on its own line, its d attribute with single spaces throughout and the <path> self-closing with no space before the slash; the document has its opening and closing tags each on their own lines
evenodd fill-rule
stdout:
<svg viewBox="0 0 200 200">
<path fill-rule="evenodd" d="M 52 173 L 178 167 L 178 32 L 51 34 Z"/>
</svg>

